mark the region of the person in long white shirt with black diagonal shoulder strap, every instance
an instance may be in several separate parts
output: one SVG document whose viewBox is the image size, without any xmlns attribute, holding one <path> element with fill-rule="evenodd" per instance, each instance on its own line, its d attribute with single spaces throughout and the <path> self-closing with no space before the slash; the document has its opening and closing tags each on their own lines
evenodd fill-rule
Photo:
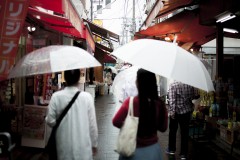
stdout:
<svg viewBox="0 0 240 160">
<path fill-rule="evenodd" d="M 55 92 L 48 106 L 46 123 L 53 127 L 78 89 L 80 70 L 64 72 L 67 86 Z M 92 160 L 97 153 L 98 129 L 92 96 L 81 91 L 56 131 L 58 160 Z"/>
</svg>

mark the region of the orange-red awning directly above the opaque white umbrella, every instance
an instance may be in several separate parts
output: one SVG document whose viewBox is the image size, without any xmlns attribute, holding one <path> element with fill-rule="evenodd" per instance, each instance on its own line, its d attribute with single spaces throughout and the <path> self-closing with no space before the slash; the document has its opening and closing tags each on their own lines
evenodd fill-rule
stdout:
<svg viewBox="0 0 240 160">
<path fill-rule="evenodd" d="M 198 10 L 185 10 L 135 34 L 135 38 L 164 39 L 167 36 L 172 41 L 174 36 L 177 36 L 176 42 L 179 45 L 185 43 L 202 45 L 216 37 L 216 29 L 199 24 Z"/>
</svg>

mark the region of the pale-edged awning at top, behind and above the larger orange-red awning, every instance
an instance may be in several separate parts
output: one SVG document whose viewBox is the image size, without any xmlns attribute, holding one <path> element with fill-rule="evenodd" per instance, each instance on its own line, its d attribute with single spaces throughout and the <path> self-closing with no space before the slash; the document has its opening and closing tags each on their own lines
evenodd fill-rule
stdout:
<svg viewBox="0 0 240 160">
<path fill-rule="evenodd" d="M 193 0 L 157 0 L 143 23 L 144 28 L 149 27 L 155 18 L 165 16 L 179 8 L 190 6 L 193 2 Z"/>
</svg>

